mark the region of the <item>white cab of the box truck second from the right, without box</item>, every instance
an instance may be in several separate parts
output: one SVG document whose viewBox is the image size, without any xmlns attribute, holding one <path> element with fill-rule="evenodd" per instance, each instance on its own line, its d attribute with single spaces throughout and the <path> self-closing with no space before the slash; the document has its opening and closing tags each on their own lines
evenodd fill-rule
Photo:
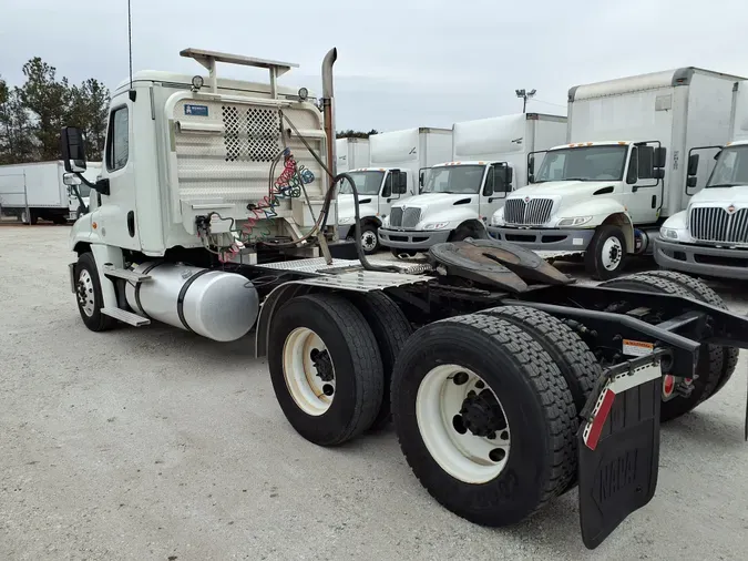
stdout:
<svg viewBox="0 0 748 561">
<path fill-rule="evenodd" d="M 665 156 L 656 141 L 581 142 L 549 150 L 536 173 L 531 156 L 527 186 L 506 197 L 489 232 L 537 251 L 592 246 L 595 269 L 614 274 L 637 246 L 634 225 L 657 222 Z"/>
</svg>

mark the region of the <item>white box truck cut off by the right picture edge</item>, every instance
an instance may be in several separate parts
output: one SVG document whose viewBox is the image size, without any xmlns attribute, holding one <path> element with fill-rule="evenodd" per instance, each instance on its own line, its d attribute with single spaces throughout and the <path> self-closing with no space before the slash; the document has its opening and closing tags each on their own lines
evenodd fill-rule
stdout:
<svg viewBox="0 0 748 561">
<path fill-rule="evenodd" d="M 717 147 L 714 160 L 716 146 L 690 151 L 690 201 L 665 221 L 655 239 L 655 259 L 664 268 L 748 279 L 748 82 L 735 83 L 731 115 L 731 142 Z"/>
</svg>

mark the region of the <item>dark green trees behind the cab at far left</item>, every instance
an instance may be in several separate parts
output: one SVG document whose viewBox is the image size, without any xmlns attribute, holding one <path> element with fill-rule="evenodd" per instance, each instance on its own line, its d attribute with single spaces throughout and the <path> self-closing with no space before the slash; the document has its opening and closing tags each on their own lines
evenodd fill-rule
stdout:
<svg viewBox="0 0 748 561">
<path fill-rule="evenodd" d="M 71 84 L 39 57 L 23 64 L 24 82 L 11 86 L 0 76 L 0 164 L 59 160 L 60 129 L 82 129 L 88 159 L 101 161 L 106 134 L 109 89 L 90 78 Z"/>
</svg>

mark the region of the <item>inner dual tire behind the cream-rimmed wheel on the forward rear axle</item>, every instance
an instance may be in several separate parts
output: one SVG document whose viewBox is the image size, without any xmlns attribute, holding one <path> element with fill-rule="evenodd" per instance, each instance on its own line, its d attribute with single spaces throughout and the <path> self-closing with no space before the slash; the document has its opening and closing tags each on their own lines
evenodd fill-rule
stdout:
<svg viewBox="0 0 748 561">
<path fill-rule="evenodd" d="M 383 293 L 366 293 L 355 297 L 353 304 L 367 318 L 377 339 L 382 358 L 385 394 L 382 405 L 371 430 L 380 430 L 392 420 L 390 409 L 390 385 L 392 369 L 406 341 L 413 333 L 410 322 L 392 299 Z"/>
</svg>

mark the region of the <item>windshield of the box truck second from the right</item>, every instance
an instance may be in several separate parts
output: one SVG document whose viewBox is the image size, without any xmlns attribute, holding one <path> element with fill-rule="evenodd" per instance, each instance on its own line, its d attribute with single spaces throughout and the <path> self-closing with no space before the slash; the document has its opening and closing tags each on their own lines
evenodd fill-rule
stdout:
<svg viewBox="0 0 748 561">
<path fill-rule="evenodd" d="M 628 146 L 583 146 L 545 154 L 534 183 L 544 181 L 621 181 Z"/>
</svg>

